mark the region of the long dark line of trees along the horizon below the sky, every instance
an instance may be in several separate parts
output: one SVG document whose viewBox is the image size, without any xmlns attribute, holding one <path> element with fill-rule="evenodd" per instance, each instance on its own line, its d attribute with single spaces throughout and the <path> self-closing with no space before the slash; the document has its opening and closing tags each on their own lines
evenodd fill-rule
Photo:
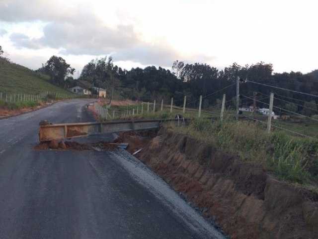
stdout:
<svg viewBox="0 0 318 239">
<path fill-rule="evenodd" d="M 72 77 L 75 69 L 61 57 L 52 56 L 39 71 L 48 74 L 52 83 L 61 87 L 70 88 L 75 85 L 76 81 Z M 175 61 L 171 70 L 155 66 L 126 70 L 114 65 L 112 58 L 105 56 L 88 62 L 83 67 L 79 79 L 88 81 L 95 87 L 107 89 L 108 94 L 114 89 L 123 99 L 145 102 L 163 99 L 165 104 L 169 104 L 173 97 L 174 104 L 181 106 L 184 96 L 187 96 L 187 102 L 190 103 L 188 107 L 197 107 L 200 95 L 207 96 L 204 98 L 203 108 L 208 108 L 220 104 L 223 94 L 227 95 L 227 100 L 235 98 L 235 86 L 228 86 L 236 83 L 237 77 L 242 79 L 242 96 L 252 97 L 253 92 L 257 92 L 257 100 L 268 104 L 269 97 L 266 96 L 274 92 L 277 95 L 275 106 L 307 116 L 317 114 L 316 97 L 274 89 L 250 81 L 318 95 L 318 70 L 308 74 L 273 73 L 272 64 L 264 62 L 245 66 L 233 63 L 219 70 L 205 63 L 185 64 Z M 217 92 L 223 88 L 226 89 Z M 217 93 L 211 94 L 214 92 Z M 241 105 L 252 105 L 251 100 L 247 98 L 242 97 L 240 101 Z M 259 102 L 257 106 L 268 108 L 266 104 Z"/>
</svg>

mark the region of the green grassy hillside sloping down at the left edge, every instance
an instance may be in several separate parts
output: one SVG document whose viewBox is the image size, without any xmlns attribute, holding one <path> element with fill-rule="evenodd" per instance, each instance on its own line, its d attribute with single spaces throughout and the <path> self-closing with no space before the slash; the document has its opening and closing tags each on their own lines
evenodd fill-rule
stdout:
<svg viewBox="0 0 318 239">
<path fill-rule="evenodd" d="M 70 93 L 50 84 L 49 77 L 44 74 L 0 59 L 0 92 L 35 95 L 46 91 Z"/>
</svg>

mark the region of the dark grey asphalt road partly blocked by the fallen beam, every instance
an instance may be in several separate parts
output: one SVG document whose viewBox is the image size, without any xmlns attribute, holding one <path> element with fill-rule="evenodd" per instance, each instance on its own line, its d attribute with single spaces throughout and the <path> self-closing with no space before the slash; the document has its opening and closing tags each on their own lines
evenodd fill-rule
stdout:
<svg viewBox="0 0 318 239">
<path fill-rule="evenodd" d="M 93 121 L 86 103 L 0 120 L 0 239 L 223 238 L 125 151 L 33 149 L 42 119 Z"/>
</svg>

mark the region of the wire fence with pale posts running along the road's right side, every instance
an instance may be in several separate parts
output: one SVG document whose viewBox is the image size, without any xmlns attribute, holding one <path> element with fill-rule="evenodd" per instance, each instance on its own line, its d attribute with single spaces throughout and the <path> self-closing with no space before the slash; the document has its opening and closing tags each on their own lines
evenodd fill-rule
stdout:
<svg viewBox="0 0 318 239">
<path fill-rule="evenodd" d="M 305 108 L 308 110 L 313 110 L 313 111 L 318 113 L 317 109 L 313 109 L 313 108 L 310 108 L 310 107 L 307 107 L 307 106 L 304 106 L 301 104 L 294 103 L 295 101 L 299 101 L 302 103 L 305 103 L 306 101 L 279 95 L 275 92 L 275 90 L 280 90 L 280 91 L 286 90 L 286 91 L 290 91 L 290 92 L 294 92 L 294 93 L 298 93 L 298 94 L 304 94 L 304 95 L 311 96 L 311 97 L 318 97 L 317 95 L 308 94 L 308 93 L 304 93 L 304 92 L 300 92 L 300 91 L 293 91 L 293 90 L 289 90 L 289 89 L 281 88 L 281 87 L 274 87 L 274 86 L 270 86 L 267 84 L 253 82 L 253 81 L 245 81 L 245 82 L 250 82 L 250 83 L 255 83 L 255 84 L 262 85 L 262 86 L 270 87 L 272 90 L 272 93 L 274 93 L 274 96 L 273 96 L 274 103 L 272 105 L 272 109 L 275 112 L 285 113 L 285 114 L 290 115 L 290 116 L 300 117 L 302 119 L 311 120 L 313 122 L 318 121 L 318 119 L 306 116 L 304 114 L 290 111 L 289 109 L 284 109 L 283 107 L 280 107 L 277 103 L 284 102 L 284 103 L 295 104 L 297 107 L 302 107 L 302 108 Z M 211 92 L 205 96 L 200 96 L 200 98 L 193 99 L 189 102 L 186 102 L 187 97 L 184 96 L 183 104 L 174 105 L 173 98 L 171 98 L 170 100 L 165 99 L 165 100 L 162 100 L 161 102 L 156 102 L 156 101 L 154 101 L 154 102 L 141 102 L 141 103 L 139 102 L 139 103 L 136 103 L 135 105 L 131 105 L 131 104 L 127 103 L 126 106 L 122 106 L 122 109 L 119 109 L 119 110 L 117 108 L 111 109 L 111 107 L 99 106 L 99 104 L 96 104 L 96 105 L 94 104 L 94 108 L 96 109 L 96 111 L 98 112 L 98 114 L 102 120 L 120 119 L 120 118 L 124 119 L 127 117 L 136 117 L 137 118 L 137 117 L 140 117 L 141 115 L 143 115 L 142 117 L 144 117 L 144 116 L 146 117 L 146 116 L 156 114 L 156 113 L 161 113 L 161 114 L 166 113 L 169 117 L 171 117 L 173 114 L 182 114 L 183 116 L 192 116 L 194 118 L 200 118 L 201 114 L 204 114 L 205 118 L 214 117 L 214 118 L 221 119 L 222 109 L 230 111 L 230 114 L 229 114 L 230 116 L 235 116 L 235 115 L 239 114 L 239 109 L 242 109 L 242 107 L 239 107 L 239 109 L 235 109 L 236 108 L 235 107 L 236 101 L 238 98 L 236 98 L 236 100 L 235 100 L 235 98 L 232 97 L 232 99 L 225 100 L 225 97 L 224 97 L 224 100 L 222 101 L 222 103 L 217 102 L 217 104 L 214 104 L 212 106 L 211 105 L 210 106 L 202 106 L 202 103 L 203 103 L 202 100 L 206 99 L 214 94 L 217 94 L 217 93 L 225 94 L 225 92 L 226 92 L 225 90 L 229 90 L 228 88 L 230 88 L 236 84 L 238 84 L 238 83 L 233 83 L 227 87 L 224 87 L 220 90 Z M 242 87 L 243 87 L 242 83 L 240 83 L 240 85 L 242 85 Z M 256 102 L 258 104 L 261 104 L 263 106 L 268 106 L 269 108 L 271 108 L 270 103 L 264 102 L 264 100 L 270 99 L 271 96 L 264 94 L 262 92 L 257 92 L 257 93 L 262 95 L 262 97 L 261 98 L 258 97 L 258 99 L 256 99 L 256 97 L 254 95 L 253 96 L 239 95 L 240 105 L 241 106 L 243 106 L 243 105 L 248 106 L 250 104 L 255 104 L 255 102 Z M 170 102 L 169 105 L 164 104 L 167 101 Z M 179 103 L 180 103 L 180 101 L 181 100 L 178 100 Z M 189 106 L 193 105 L 194 103 L 196 103 L 196 105 L 197 105 L 198 102 L 199 102 L 199 107 L 196 107 L 196 108 L 189 107 Z M 235 110 L 237 110 L 236 114 L 235 114 Z M 244 116 L 242 116 L 241 118 L 254 120 L 254 121 L 257 121 L 261 124 L 268 125 L 269 121 L 271 121 L 271 120 L 269 120 L 270 117 L 268 117 L 269 112 L 267 111 L 265 116 L 259 114 L 258 117 L 255 117 L 255 114 L 253 116 L 253 113 L 255 110 L 256 109 L 252 109 L 252 111 L 251 111 L 249 109 L 248 111 L 249 111 L 250 115 L 244 114 Z M 268 118 L 267 120 L 266 120 L 266 117 Z M 272 118 L 272 116 L 271 116 L 271 118 Z M 274 118 L 276 119 L 276 116 Z M 278 124 L 278 121 L 276 121 L 276 122 L 277 123 L 270 123 L 270 125 L 276 129 L 284 130 L 284 131 L 291 133 L 291 134 L 294 134 L 294 135 L 298 135 L 298 136 L 302 136 L 302 137 L 309 137 L 309 138 L 313 137 L 313 136 L 310 136 L 306 133 L 292 130 L 289 127 L 289 125 L 284 124 L 282 122 L 282 120 L 280 121 L 279 124 Z M 313 132 L 316 133 L 316 130 L 313 130 Z M 318 135 L 318 131 L 317 131 L 317 135 Z"/>
</svg>

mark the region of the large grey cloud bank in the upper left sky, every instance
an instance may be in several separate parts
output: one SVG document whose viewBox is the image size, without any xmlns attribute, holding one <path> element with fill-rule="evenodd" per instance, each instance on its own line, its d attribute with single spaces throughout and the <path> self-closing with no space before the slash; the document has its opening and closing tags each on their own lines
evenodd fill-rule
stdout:
<svg viewBox="0 0 318 239">
<path fill-rule="evenodd" d="M 107 21 L 95 15 L 89 2 L 72 3 L 70 0 L 67 4 L 59 0 L 1 0 L 0 9 L 0 21 L 8 24 L 29 22 L 32 25 L 32 22 L 40 21 L 44 25 L 41 28 L 43 34 L 38 38 L 25 31 L 24 34 L 11 31 L 9 39 L 17 49 L 26 48 L 35 52 L 55 49 L 64 56 L 111 54 L 115 61 L 163 67 L 170 67 L 176 59 L 191 62 L 197 61 L 198 57 L 202 60 L 210 59 L 198 55 L 192 60 L 188 55 L 181 55 L 159 36 L 145 41 L 136 29 L 136 21 L 130 21 L 130 17 L 125 14 L 118 14 L 118 17 L 125 18 L 125 23 L 117 22 L 110 27 Z"/>
</svg>

